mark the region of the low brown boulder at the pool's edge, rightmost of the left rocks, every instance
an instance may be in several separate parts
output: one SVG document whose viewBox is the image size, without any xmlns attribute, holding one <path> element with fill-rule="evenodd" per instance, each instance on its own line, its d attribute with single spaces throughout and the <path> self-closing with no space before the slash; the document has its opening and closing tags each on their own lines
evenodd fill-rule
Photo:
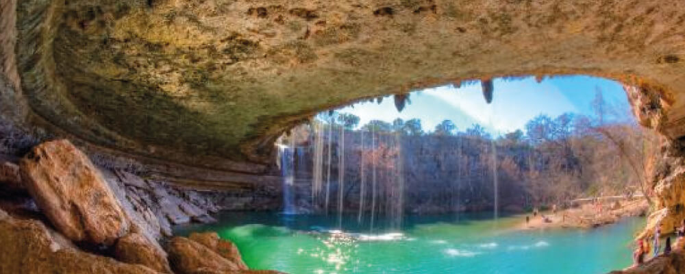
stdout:
<svg viewBox="0 0 685 274">
<path fill-rule="evenodd" d="M 178 274 L 235 273 L 242 271 L 234 262 L 223 258 L 212 249 L 185 237 L 174 237 L 166 251 L 171 267 Z"/>
</svg>

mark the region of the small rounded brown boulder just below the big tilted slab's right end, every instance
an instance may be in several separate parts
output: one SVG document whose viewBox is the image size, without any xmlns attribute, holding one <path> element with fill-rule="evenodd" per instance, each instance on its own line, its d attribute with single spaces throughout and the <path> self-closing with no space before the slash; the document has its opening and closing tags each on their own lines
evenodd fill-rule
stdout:
<svg viewBox="0 0 685 274">
<path fill-rule="evenodd" d="M 160 273 L 172 273 L 166 253 L 138 233 L 128 234 L 116 241 L 114 258 L 129 264 L 142 264 Z"/>
</svg>

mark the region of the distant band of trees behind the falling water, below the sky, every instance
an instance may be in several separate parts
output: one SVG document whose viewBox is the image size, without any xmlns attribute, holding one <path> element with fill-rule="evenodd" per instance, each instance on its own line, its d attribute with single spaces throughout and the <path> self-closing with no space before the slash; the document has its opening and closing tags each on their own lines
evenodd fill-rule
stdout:
<svg viewBox="0 0 685 274">
<path fill-rule="evenodd" d="M 316 138 L 323 138 L 319 151 L 327 153 L 331 146 L 330 162 L 323 155 L 319 169 L 331 170 L 330 179 L 327 172 L 319 175 L 323 184 L 331 184 L 329 208 L 338 204 L 344 157 L 346 210 L 359 205 L 371 210 L 373 197 L 379 205 L 374 210 L 380 212 L 397 210 L 399 198 L 402 210 L 410 212 L 488 210 L 497 188 L 499 208 L 513 211 L 643 190 L 645 162 L 656 150 L 656 135 L 634 123 L 608 123 L 605 117 L 602 112 L 593 117 L 539 115 L 525 124 L 525 131 L 493 137 L 481 125 L 458 131 L 449 120 L 429 132 L 418 119 L 370 121 L 358 127 L 357 116 L 332 112 L 289 138 L 310 144 L 301 153 L 306 166 L 298 168 L 300 179 L 316 177 L 310 174 Z M 303 202 L 310 196 L 302 190 Z M 323 207 L 320 201 L 313 203 Z"/>
</svg>

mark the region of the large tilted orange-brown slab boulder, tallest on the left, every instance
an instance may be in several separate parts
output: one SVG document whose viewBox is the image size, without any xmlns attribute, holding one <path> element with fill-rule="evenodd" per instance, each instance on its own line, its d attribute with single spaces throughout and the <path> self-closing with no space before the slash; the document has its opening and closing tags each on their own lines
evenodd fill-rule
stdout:
<svg viewBox="0 0 685 274">
<path fill-rule="evenodd" d="M 112 245 L 128 233 L 129 221 L 100 171 L 69 140 L 44 142 L 19 165 L 36 204 L 66 237 Z"/>
</svg>

